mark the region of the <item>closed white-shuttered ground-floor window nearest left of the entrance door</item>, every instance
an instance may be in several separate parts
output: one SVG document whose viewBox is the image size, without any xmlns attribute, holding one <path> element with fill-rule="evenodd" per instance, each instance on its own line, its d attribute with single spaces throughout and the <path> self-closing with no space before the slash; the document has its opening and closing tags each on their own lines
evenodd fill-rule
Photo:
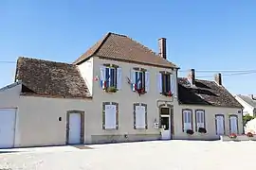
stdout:
<svg viewBox="0 0 256 170">
<path fill-rule="evenodd" d="M 134 128 L 147 128 L 147 105 L 134 104 Z"/>
</svg>

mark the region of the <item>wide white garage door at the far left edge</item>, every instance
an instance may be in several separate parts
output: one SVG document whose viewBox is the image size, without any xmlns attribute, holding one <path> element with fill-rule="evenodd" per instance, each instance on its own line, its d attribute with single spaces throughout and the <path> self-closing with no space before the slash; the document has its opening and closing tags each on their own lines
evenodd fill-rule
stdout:
<svg viewBox="0 0 256 170">
<path fill-rule="evenodd" d="M 15 109 L 0 109 L 0 148 L 13 147 Z"/>
</svg>

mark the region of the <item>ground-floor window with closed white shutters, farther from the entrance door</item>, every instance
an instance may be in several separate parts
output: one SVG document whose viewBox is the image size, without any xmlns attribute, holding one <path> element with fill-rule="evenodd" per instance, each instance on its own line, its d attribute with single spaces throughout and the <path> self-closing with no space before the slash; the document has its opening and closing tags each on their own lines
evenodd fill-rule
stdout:
<svg viewBox="0 0 256 170">
<path fill-rule="evenodd" d="M 119 104 L 114 102 L 104 102 L 102 111 L 102 127 L 103 129 L 118 129 Z"/>
</svg>

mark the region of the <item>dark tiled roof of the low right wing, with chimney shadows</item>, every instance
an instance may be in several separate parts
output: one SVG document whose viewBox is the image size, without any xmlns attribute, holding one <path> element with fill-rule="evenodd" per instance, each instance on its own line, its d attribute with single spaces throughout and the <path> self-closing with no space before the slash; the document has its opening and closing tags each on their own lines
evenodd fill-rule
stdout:
<svg viewBox="0 0 256 170">
<path fill-rule="evenodd" d="M 243 108 L 227 89 L 214 81 L 195 79 L 193 86 L 188 86 L 187 82 L 186 77 L 178 78 L 178 97 L 181 104 Z"/>
</svg>

